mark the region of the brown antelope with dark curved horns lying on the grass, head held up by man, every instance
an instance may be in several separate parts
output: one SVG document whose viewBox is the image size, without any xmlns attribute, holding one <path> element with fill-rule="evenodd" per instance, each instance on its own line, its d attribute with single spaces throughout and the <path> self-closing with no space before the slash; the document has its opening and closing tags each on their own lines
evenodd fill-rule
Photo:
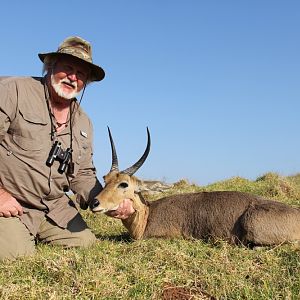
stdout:
<svg viewBox="0 0 300 300">
<path fill-rule="evenodd" d="M 109 215 L 125 198 L 131 199 L 135 212 L 122 220 L 133 239 L 194 238 L 226 240 L 231 244 L 278 245 L 300 240 L 300 210 L 287 204 L 237 191 L 177 194 L 146 201 L 143 182 L 134 173 L 150 151 L 131 167 L 119 171 L 114 141 L 108 128 L 112 165 L 104 178 L 104 188 L 91 203 L 93 212 Z"/>
</svg>

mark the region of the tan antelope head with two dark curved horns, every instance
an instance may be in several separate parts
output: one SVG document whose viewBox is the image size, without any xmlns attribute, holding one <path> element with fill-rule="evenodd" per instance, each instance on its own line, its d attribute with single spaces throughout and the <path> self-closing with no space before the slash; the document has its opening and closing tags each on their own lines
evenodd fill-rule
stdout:
<svg viewBox="0 0 300 300">
<path fill-rule="evenodd" d="M 133 208 L 138 210 L 141 205 L 137 193 L 140 191 L 140 180 L 133 176 L 133 174 L 143 165 L 149 151 L 150 151 L 150 133 L 147 127 L 147 147 L 141 156 L 141 158 L 133 164 L 131 167 L 124 171 L 119 171 L 118 158 L 114 145 L 114 141 L 108 128 L 112 164 L 111 169 L 107 175 L 103 177 L 104 188 L 96 196 L 96 199 L 91 204 L 91 210 L 93 212 L 109 213 L 118 208 L 119 204 L 126 198 L 131 199 L 133 202 Z"/>
</svg>

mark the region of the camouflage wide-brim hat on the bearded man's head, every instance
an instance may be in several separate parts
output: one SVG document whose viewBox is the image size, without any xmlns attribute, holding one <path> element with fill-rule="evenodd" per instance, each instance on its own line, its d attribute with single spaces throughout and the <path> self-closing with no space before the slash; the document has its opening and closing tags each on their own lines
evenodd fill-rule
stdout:
<svg viewBox="0 0 300 300">
<path fill-rule="evenodd" d="M 56 52 L 39 53 L 38 56 L 42 62 L 46 57 L 52 56 L 72 56 L 83 61 L 91 70 L 89 81 L 100 81 L 104 78 L 104 70 L 93 64 L 91 44 L 78 36 L 66 38 L 58 47 Z"/>
</svg>

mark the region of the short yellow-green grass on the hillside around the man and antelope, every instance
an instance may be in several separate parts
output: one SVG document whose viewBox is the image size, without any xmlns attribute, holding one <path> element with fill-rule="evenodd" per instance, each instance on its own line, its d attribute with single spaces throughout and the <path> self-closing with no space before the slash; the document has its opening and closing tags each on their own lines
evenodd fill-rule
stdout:
<svg viewBox="0 0 300 300">
<path fill-rule="evenodd" d="M 268 173 L 205 187 L 182 180 L 163 195 L 241 190 L 298 206 L 298 179 Z M 38 245 L 32 257 L 0 263 L 0 299 L 300 298 L 300 252 L 293 245 L 250 250 L 223 241 L 132 241 L 119 220 L 83 215 L 97 243 L 68 250 Z"/>
</svg>

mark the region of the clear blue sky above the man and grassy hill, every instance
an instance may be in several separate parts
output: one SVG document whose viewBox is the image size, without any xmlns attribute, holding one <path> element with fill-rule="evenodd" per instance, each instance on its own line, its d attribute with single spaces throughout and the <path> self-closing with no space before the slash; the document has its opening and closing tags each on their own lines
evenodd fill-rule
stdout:
<svg viewBox="0 0 300 300">
<path fill-rule="evenodd" d="M 144 179 L 205 185 L 300 172 L 300 2 L 3 1 L 0 75 L 41 75 L 39 52 L 70 35 L 106 71 L 82 106 L 94 123 L 99 178 L 152 136 Z"/>
</svg>

